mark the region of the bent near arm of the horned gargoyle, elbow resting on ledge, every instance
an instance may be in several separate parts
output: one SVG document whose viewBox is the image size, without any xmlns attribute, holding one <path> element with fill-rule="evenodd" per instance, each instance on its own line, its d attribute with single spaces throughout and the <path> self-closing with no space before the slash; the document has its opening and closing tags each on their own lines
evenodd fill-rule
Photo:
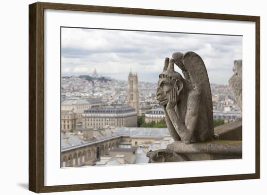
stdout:
<svg viewBox="0 0 267 195">
<path fill-rule="evenodd" d="M 175 94 L 171 93 L 170 102 L 175 101 Z M 190 92 L 187 98 L 187 112 L 185 115 L 185 124 L 178 117 L 178 113 L 175 112 L 173 104 L 168 104 L 166 107 L 168 116 L 176 129 L 178 135 L 184 141 L 184 143 L 190 143 L 192 136 L 194 134 L 196 124 L 199 117 L 199 108 L 200 108 L 200 91 L 194 89 Z"/>
</svg>

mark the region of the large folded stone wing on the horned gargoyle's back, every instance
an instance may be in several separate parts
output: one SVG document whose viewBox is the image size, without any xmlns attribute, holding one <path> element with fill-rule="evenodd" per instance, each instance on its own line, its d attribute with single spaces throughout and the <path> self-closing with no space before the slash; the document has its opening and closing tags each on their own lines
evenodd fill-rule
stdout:
<svg viewBox="0 0 267 195">
<path fill-rule="evenodd" d="M 212 95 L 205 64 L 197 53 L 187 52 L 183 57 L 181 54 L 173 54 L 173 57 L 176 57 L 175 64 L 183 71 L 184 79 L 191 84 L 192 88 L 201 91 L 201 104 L 205 104 L 211 135 L 214 135 Z"/>
</svg>

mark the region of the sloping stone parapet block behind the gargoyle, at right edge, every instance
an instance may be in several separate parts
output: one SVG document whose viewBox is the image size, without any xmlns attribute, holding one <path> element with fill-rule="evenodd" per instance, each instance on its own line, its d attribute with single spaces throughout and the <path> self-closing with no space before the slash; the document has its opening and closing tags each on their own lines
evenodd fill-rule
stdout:
<svg viewBox="0 0 267 195">
<path fill-rule="evenodd" d="M 242 141 L 242 121 L 234 121 L 214 128 L 217 140 Z"/>
</svg>

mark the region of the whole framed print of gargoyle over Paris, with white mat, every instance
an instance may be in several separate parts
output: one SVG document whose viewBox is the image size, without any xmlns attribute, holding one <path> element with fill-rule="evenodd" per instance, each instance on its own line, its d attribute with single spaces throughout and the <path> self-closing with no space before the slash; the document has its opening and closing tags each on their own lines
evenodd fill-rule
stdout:
<svg viewBox="0 0 267 195">
<path fill-rule="evenodd" d="M 252 178 L 260 17 L 29 5 L 29 190 Z"/>
</svg>

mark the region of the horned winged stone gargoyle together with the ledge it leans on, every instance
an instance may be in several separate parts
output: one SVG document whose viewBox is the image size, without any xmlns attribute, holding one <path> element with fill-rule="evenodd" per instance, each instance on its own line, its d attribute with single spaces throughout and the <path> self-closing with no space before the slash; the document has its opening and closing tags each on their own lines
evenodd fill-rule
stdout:
<svg viewBox="0 0 267 195">
<path fill-rule="evenodd" d="M 174 71 L 174 64 L 184 77 Z M 156 96 L 175 142 L 149 151 L 150 163 L 242 158 L 242 141 L 215 139 L 209 77 L 197 53 L 173 53 L 165 59 Z"/>
</svg>

